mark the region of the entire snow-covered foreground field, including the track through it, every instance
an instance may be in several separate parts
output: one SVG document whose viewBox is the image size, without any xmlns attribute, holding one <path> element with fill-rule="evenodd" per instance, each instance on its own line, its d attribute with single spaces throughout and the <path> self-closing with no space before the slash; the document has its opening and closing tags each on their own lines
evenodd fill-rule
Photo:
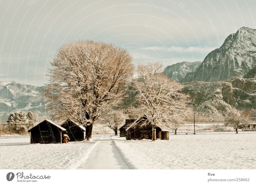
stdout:
<svg viewBox="0 0 256 185">
<path fill-rule="evenodd" d="M 124 137 L 114 136 L 95 136 L 92 139 L 95 141 L 28 144 L 28 137 L 0 137 L 0 169 L 87 169 L 92 168 L 90 166 L 95 169 L 256 167 L 254 133 L 170 135 L 170 140 L 153 142 L 126 141 Z"/>
</svg>

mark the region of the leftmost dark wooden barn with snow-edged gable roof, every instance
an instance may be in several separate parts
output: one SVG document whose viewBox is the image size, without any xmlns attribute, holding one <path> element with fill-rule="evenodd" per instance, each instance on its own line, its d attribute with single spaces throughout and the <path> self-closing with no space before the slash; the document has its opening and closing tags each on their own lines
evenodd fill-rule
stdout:
<svg viewBox="0 0 256 185">
<path fill-rule="evenodd" d="M 30 132 L 30 144 L 63 143 L 62 135 L 67 130 L 50 120 L 44 120 L 28 130 Z"/>
</svg>

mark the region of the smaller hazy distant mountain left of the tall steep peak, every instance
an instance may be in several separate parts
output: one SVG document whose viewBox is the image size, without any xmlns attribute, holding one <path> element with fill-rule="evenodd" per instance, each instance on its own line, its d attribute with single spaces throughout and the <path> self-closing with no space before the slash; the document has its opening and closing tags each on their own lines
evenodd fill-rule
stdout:
<svg viewBox="0 0 256 185">
<path fill-rule="evenodd" d="M 180 62 L 169 65 L 164 69 L 164 74 L 169 78 L 182 82 L 188 73 L 193 73 L 202 62 Z"/>
</svg>

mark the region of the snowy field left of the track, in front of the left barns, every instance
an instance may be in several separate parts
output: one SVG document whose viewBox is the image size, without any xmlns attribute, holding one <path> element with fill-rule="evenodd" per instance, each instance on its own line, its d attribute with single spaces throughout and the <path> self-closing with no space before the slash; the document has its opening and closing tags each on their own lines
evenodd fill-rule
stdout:
<svg viewBox="0 0 256 185">
<path fill-rule="evenodd" d="M 0 137 L 0 169 L 76 169 L 96 144 L 29 144 L 29 137 Z"/>
</svg>

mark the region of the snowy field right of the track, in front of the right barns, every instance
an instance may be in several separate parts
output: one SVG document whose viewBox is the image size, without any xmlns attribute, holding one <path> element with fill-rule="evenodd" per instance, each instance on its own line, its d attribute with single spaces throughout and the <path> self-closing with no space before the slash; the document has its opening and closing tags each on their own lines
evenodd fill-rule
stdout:
<svg viewBox="0 0 256 185">
<path fill-rule="evenodd" d="M 254 169 L 255 134 L 170 135 L 115 142 L 137 169 Z"/>
</svg>

